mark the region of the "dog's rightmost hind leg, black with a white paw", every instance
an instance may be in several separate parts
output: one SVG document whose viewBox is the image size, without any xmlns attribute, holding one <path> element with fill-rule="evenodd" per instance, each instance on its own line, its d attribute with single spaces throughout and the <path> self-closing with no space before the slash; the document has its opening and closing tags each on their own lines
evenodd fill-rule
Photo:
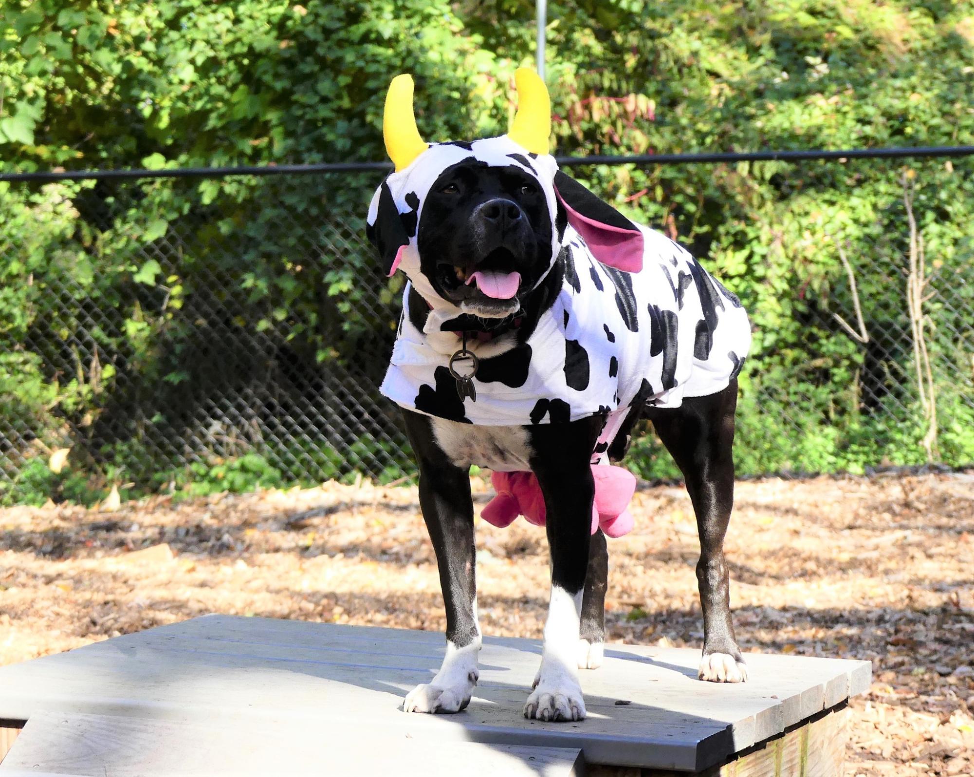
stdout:
<svg viewBox="0 0 974 777">
<path fill-rule="evenodd" d="M 724 558 L 733 507 L 733 431 L 737 381 L 709 396 L 689 397 L 677 409 L 647 411 L 656 433 L 687 481 L 700 536 L 696 580 L 703 610 L 699 678 L 743 683 L 747 667 L 731 623 L 730 574 Z"/>
</svg>

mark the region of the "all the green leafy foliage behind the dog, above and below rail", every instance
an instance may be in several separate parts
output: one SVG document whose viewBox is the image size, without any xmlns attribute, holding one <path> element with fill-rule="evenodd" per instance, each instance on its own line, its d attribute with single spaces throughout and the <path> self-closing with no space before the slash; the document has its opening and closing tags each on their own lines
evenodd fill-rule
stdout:
<svg viewBox="0 0 974 777">
<path fill-rule="evenodd" d="M 10 0 L 0 160 L 19 170 L 379 160 L 398 72 L 416 77 L 428 139 L 498 133 L 513 69 L 533 60 L 533 14 L 519 0 Z M 560 154 L 974 144 L 970 2 L 580 0 L 550 3 L 548 18 Z M 573 174 L 686 242 L 751 314 L 742 473 L 925 461 L 903 276 L 911 176 L 935 292 L 925 311 L 939 455 L 974 461 L 969 159 Z M 407 474 L 392 425 L 341 439 L 318 429 L 292 447 L 265 434 L 245 390 L 267 369 L 260 353 L 207 345 L 270 343 L 305 369 L 378 380 L 381 359 L 362 354 L 388 350 L 401 278 L 377 277 L 361 239 L 376 182 L 0 183 L 0 462 L 14 462 L 0 500 L 94 500 L 110 482 L 208 493 L 307 472 Z M 869 346 L 833 317 L 854 322 L 839 245 Z M 201 364 L 223 383 L 207 383 Z M 204 440 L 217 389 L 253 414 L 229 430 L 249 436 Z M 288 390 L 294 418 L 311 412 Z M 73 468 L 55 475 L 46 454 L 59 447 L 72 448 Z M 205 463 L 187 469 L 188 452 Z M 650 436 L 630 461 L 645 477 L 676 474 Z"/>
</svg>

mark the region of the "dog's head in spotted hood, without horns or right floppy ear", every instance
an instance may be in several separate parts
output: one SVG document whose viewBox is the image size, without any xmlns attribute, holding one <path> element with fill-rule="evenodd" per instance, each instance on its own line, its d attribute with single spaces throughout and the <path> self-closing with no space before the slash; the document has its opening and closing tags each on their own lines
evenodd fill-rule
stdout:
<svg viewBox="0 0 974 777">
<path fill-rule="evenodd" d="M 567 217 L 556 172 L 506 135 L 437 143 L 380 187 L 369 237 L 431 308 L 505 317 L 557 255 Z"/>
</svg>

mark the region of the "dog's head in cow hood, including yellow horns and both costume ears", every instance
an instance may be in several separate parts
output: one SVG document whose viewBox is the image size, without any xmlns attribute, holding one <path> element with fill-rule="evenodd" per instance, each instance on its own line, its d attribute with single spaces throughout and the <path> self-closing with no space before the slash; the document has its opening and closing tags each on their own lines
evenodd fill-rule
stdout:
<svg viewBox="0 0 974 777">
<path fill-rule="evenodd" d="M 385 271 L 402 270 L 444 320 L 516 313 L 557 261 L 568 224 L 600 261 L 642 266 L 639 228 L 558 170 L 544 85 L 530 71 L 517 77 L 522 102 L 533 101 L 506 135 L 482 140 L 429 145 L 412 116 L 412 81 L 397 77 L 387 95 L 396 169 L 372 199 L 369 239 Z"/>
</svg>

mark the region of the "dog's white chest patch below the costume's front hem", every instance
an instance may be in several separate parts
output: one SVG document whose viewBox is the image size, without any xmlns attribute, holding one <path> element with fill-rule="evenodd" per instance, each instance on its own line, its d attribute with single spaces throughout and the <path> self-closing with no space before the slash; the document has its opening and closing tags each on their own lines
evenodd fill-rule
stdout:
<svg viewBox="0 0 974 777">
<path fill-rule="evenodd" d="M 477 426 L 431 418 L 436 444 L 457 466 L 498 472 L 530 469 L 531 445 L 523 426 Z"/>
</svg>

